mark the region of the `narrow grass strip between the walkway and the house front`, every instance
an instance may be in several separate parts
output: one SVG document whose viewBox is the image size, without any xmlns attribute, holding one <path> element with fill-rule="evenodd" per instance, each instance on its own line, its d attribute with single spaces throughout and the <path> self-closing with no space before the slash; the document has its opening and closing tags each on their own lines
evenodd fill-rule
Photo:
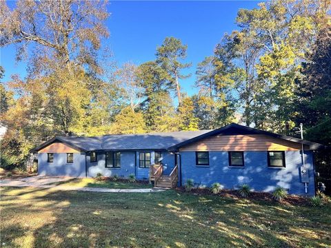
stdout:
<svg viewBox="0 0 331 248">
<path fill-rule="evenodd" d="M 112 181 L 112 180 L 101 180 L 98 181 L 94 178 L 71 178 L 66 181 L 58 183 L 50 183 L 50 185 L 61 185 L 68 187 L 102 187 L 109 189 L 146 189 L 154 187 L 154 184 L 148 183 L 130 183 L 128 181 Z"/>
</svg>

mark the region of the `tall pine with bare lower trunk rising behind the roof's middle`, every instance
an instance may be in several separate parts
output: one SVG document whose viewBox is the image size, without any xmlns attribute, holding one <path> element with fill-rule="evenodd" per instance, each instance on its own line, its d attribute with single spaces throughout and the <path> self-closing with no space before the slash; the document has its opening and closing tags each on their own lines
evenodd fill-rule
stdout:
<svg viewBox="0 0 331 248">
<path fill-rule="evenodd" d="M 176 85 L 177 98 L 181 104 L 181 87 L 179 79 L 185 79 L 190 75 L 181 74 L 181 70 L 189 68 L 191 63 L 182 63 L 186 58 L 187 45 L 183 45 L 181 40 L 174 37 L 167 37 L 162 45 L 157 48 L 157 63 L 171 76 L 170 82 Z"/>
</svg>

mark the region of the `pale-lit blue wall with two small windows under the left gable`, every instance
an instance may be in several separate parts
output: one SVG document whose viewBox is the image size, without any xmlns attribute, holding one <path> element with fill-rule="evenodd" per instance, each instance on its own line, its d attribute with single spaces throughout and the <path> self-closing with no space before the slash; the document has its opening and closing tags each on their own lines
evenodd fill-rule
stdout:
<svg viewBox="0 0 331 248">
<path fill-rule="evenodd" d="M 66 153 L 54 153 L 53 163 L 47 162 L 47 153 L 39 153 L 38 174 L 46 176 L 85 177 L 85 153 L 74 153 L 74 163 L 67 163 Z"/>
</svg>

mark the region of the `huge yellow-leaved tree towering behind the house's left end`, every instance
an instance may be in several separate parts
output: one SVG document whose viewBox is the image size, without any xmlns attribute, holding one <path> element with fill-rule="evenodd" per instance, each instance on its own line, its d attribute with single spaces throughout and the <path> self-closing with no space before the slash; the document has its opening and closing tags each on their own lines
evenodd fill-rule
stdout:
<svg viewBox="0 0 331 248">
<path fill-rule="evenodd" d="M 23 165 L 32 147 L 54 135 L 107 130 L 114 99 L 103 90 L 109 83 L 98 55 L 108 37 L 106 2 L 17 1 L 11 10 L 1 1 L 0 12 L 1 47 L 14 44 L 17 60 L 29 60 L 26 79 L 6 82 L 15 95 L 1 114 L 6 165 Z"/>
</svg>

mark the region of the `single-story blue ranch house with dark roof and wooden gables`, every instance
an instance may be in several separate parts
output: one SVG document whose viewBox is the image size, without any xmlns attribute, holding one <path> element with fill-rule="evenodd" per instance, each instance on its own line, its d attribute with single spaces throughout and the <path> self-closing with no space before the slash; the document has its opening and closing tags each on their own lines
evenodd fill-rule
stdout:
<svg viewBox="0 0 331 248">
<path fill-rule="evenodd" d="M 301 149 L 303 147 L 304 156 Z M 57 136 L 33 149 L 38 174 L 128 177 L 155 180 L 159 187 L 218 182 L 247 183 L 255 191 L 281 186 L 290 194 L 314 195 L 313 151 L 324 146 L 299 138 L 230 124 L 217 130 Z"/>
</svg>

